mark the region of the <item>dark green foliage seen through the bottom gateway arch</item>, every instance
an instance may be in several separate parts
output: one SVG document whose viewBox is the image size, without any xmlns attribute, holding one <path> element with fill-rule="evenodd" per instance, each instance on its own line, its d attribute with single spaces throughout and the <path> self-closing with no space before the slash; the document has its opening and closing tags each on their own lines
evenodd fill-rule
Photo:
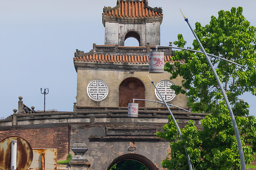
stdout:
<svg viewBox="0 0 256 170">
<path fill-rule="evenodd" d="M 136 169 L 136 170 L 148 170 L 146 166 L 143 164 L 135 161 L 135 160 L 123 160 L 115 165 L 113 165 L 110 170 L 129 170 L 129 169 Z"/>
</svg>

